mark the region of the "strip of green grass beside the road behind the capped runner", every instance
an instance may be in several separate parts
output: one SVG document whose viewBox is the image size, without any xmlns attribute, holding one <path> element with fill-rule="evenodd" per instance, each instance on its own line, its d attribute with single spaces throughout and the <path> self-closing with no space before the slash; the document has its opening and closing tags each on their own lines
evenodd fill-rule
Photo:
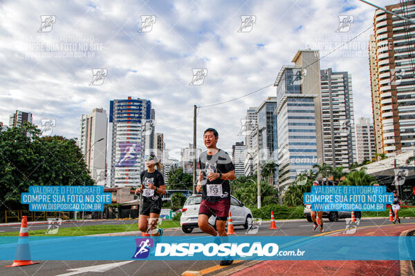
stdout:
<svg viewBox="0 0 415 276">
<path fill-rule="evenodd" d="M 180 227 L 180 221 L 163 221 L 161 228 L 175 228 Z M 61 227 L 57 234 L 45 234 L 46 226 L 43 230 L 30 230 L 29 236 L 84 236 L 84 235 L 96 235 L 104 233 L 118 233 L 118 232 L 129 232 L 138 231 L 137 224 L 117 224 L 117 225 L 94 225 L 94 226 L 80 226 L 80 227 Z M 18 236 L 19 232 L 3 232 L 0 236 Z"/>
</svg>

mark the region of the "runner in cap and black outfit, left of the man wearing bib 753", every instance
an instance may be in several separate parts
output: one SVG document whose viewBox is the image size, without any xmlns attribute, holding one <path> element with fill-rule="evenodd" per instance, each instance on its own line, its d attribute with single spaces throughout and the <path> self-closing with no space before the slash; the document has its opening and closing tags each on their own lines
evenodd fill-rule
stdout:
<svg viewBox="0 0 415 276">
<path fill-rule="evenodd" d="M 165 184 L 163 175 L 154 166 L 160 168 L 160 162 L 156 155 L 145 155 L 145 166 L 140 175 L 141 186 L 136 189 L 142 193 L 142 207 L 138 218 L 138 228 L 143 233 L 150 233 L 152 236 L 162 236 L 163 229 L 157 228 L 157 221 L 161 211 L 161 195 L 165 195 Z"/>
</svg>

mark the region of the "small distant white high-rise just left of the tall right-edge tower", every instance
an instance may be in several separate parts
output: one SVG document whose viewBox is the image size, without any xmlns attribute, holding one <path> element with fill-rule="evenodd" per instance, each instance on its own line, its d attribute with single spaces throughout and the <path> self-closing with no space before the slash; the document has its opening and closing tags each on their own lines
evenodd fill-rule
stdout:
<svg viewBox="0 0 415 276">
<path fill-rule="evenodd" d="M 374 125 L 369 118 L 360 117 L 356 121 L 357 162 L 372 161 L 376 155 Z"/>
</svg>

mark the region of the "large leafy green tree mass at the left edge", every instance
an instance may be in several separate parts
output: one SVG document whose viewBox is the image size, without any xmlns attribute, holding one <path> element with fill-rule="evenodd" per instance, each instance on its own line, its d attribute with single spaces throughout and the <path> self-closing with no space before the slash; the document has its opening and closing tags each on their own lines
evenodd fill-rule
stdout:
<svg viewBox="0 0 415 276">
<path fill-rule="evenodd" d="M 74 139 L 40 134 L 27 123 L 0 132 L 0 216 L 27 208 L 20 195 L 29 186 L 93 185 Z"/>
</svg>

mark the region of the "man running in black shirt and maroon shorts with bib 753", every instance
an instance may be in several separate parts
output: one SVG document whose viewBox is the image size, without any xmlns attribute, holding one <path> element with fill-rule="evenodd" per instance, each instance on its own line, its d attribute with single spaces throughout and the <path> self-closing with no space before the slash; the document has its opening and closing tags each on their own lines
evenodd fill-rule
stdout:
<svg viewBox="0 0 415 276">
<path fill-rule="evenodd" d="M 199 228 L 214 237 L 226 237 L 226 220 L 230 209 L 229 180 L 235 179 L 235 168 L 228 153 L 216 148 L 219 139 L 214 128 L 203 133 L 203 142 L 207 150 L 201 153 L 199 164 L 199 183 L 196 190 L 203 190 L 201 207 L 199 208 Z M 208 223 L 211 215 L 216 216 L 216 230 Z M 229 266 L 232 260 L 222 260 L 221 266 Z"/>
</svg>

